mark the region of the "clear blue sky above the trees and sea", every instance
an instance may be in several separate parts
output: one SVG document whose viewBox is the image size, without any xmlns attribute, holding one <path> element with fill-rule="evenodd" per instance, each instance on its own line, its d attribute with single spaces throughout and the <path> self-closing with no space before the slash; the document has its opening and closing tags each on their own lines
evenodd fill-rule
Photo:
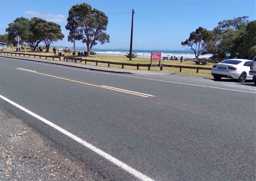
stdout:
<svg viewBox="0 0 256 181">
<path fill-rule="evenodd" d="M 39 17 L 60 24 L 63 40 L 51 45 L 73 47 L 66 30 L 68 11 L 73 5 L 87 3 L 108 17 L 110 43 L 95 45 L 102 49 L 130 49 L 132 10 L 133 50 L 185 50 L 181 42 L 198 27 L 213 30 L 223 20 L 248 16 L 256 20 L 256 0 L 1 0 L 0 34 L 16 18 Z M 86 47 L 76 41 L 77 47 Z"/>
</svg>

